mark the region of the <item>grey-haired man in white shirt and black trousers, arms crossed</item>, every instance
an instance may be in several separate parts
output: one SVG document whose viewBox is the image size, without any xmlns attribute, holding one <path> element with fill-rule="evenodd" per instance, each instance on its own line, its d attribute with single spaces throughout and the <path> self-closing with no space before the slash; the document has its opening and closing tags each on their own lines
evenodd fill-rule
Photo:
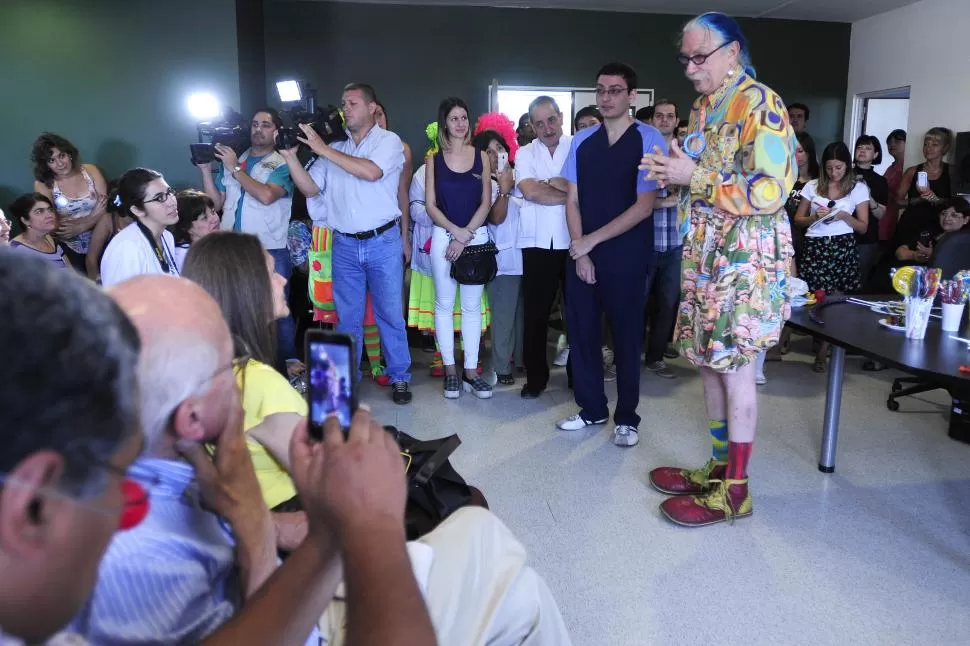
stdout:
<svg viewBox="0 0 970 646">
<path fill-rule="evenodd" d="M 521 395 L 535 399 L 549 383 L 546 346 L 549 314 L 563 282 L 569 257 L 566 191 L 562 167 L 572 137 L 564 135 L 563 115 L 552 97 L 529 105 L 536 138 L 515 156 L 515 182 L 525 201 L 519 209 L 518 246 L 522 249 L 525 300 L 523 358 L 526 383 Z"/>
</svg>

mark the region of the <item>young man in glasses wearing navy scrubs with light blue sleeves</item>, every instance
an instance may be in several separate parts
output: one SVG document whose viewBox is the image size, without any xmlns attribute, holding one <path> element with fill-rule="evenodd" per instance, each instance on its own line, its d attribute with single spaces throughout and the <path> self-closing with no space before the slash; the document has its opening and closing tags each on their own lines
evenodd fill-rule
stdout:
<svg viewBox="0 0 970 646">
<path fill-rule="evenodd" d="M 569 182 L 566 221 L 566 320 L 573 390 L 580 411 L 557 424 L 578 431 L 609 419 L 603 384 L 602 316 L 613 330 L 617 403 L 613 443 L 635 446 L 640 417 L 640 353 L 644 285 L 653 260 L 657 183 L 637 166 L 647 152 L 667 144 L 653 126 L 635 121 L 637 76 L 629 65 L 610 63 L 596 75 L 596 106 L 603 123 L 572 141 L 563 176 Z"/>
</svg>

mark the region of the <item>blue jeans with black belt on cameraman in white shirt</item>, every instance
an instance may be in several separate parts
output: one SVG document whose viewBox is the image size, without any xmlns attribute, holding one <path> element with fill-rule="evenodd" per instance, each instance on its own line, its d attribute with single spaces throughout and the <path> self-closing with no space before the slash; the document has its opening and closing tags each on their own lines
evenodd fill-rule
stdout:
<svg viewBox="0 0 970 646">
<path fill-rule="evenodd" d="M 411 351 L 404 327 L 404 257 L 401 228 L 393 226 L 379 236 L 357 240 L 334 231 L 333 300 L 340 322 L 337 330 L 354 339 L 355 363 L 360 381 L 363 351 L 364 306 L 367 292 L 374 302 L 374 318 L 391 383 L 411 381 Z"/>
</svg>

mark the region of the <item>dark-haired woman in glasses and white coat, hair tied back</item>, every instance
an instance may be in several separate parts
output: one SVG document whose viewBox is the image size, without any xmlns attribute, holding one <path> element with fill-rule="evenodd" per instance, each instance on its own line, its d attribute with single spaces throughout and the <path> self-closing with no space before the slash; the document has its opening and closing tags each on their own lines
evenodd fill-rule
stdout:
<svg viewBox="0 0 970 646">
<path fill-rule="evenodd" d="M 166 227 L 178 222 L 178 205 L 175 189 L 161 173 L 148 168 L 127 171 L 109 196 L 109 203 L 134 222 L 104 250 L 101 284 L 110 287 L 144 274 L 177 276 L 175 238 Z"/>
</svg>

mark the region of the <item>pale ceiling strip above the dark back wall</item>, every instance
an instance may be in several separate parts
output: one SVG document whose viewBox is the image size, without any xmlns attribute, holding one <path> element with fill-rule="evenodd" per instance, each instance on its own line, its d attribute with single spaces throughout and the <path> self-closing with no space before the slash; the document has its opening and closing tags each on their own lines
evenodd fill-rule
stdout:
<svg viewBox="0 0 970 646">
<path fill-rule="evenodd" d="M 331 0 L 324 0 L 331 1 Z M 732 16 L 855 22 L 914 4 L 918 0 L 337 0 L 371 4 L 467 5 L 700 14 L 723 11 Z"/>
</svg>

